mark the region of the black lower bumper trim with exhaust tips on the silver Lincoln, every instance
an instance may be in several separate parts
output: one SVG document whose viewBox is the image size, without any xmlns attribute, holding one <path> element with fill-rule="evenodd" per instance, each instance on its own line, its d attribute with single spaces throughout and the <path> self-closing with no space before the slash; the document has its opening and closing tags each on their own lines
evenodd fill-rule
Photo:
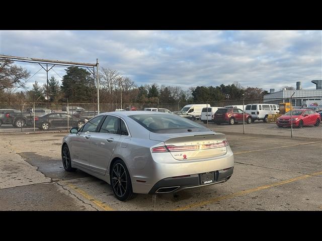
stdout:
<svg viewBox="0 0 322 241">
<path fill-rule="evenodd" d="M 201 184 L 200 174 L 190 175 L 189 177 L 165 178 L 163 180 L 158 181 L 149 191 L 149 194 L 179 192 L 188 188 L 203 187 L 225 182 L 230 178 L 232 173 L 233 167 L 224 170 L 214 171 L 214 182 L 210 184 Z"/>
</svg>

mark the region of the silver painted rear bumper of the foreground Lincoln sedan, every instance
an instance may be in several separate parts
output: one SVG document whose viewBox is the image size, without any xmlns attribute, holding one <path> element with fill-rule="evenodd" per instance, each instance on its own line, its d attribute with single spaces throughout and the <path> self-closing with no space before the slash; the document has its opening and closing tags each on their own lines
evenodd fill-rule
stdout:
<svg viewBox="0 0 322 241">
<path fill-rule="evenodd" d="M 162 187 L 176 187 L 169 192 L 199 187 L 200 174 L 207 172 L 216 173 L 213 183 L 211 183 L 214 184 L 225 181 L 227 177 L 231 176 L 232 173 L 223 172 L 222 170 L 233 166 L 234 158 L 229 146 L 227 146 L 226 153 L 222 156 L 195 161 L 179 161 L 174 159 L 171 153 L 163 153 L 163 155 L 155 153 L 155 155 L 152 154 L 151 161 L 144 168 L 130 169 L 132 188 L 134 193 L 147 194 L 155 193 L 157 189 Z M 223 174 L 225 176 L 222 176 Z M 181 177 L 186 175 L 190 176 Z"/>
</svg>

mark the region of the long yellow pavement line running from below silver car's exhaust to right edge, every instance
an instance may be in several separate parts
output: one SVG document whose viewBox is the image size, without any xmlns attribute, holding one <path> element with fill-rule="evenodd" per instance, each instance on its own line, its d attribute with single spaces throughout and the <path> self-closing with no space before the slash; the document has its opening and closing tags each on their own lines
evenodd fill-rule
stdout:
<svg viewBox="0 0 322 241">
<path fill-rule="evenodd" d="M 236 193 L 229 194 L 229 195 L 226 195 L 226 196 L 212 198 L 212 199 L 207 200 L 207 201 L 196 202 L 194 204 L 190 204 L 190 205 L 187 205 L 187 206 L 183 206 L 183 207 L 173 209 L 173 211 L 182 211 L 182 210 L 186 210 L 186 209 L 189 209 L 189 208 L 192 208 L 192 207 L 199 207 L 199 206 L 209 204 L 209 203 L 212 203 L 212 202 L 217 202 L 217 201 L 221 201 L 221 200 L 224 200 L 224 199 L 229 199 L 229 198 L 236 197 L 236 196 L 242 196 L 242 195 L 245 195 L 245 194 L 248 194 L 248 193 L 251 193 L 251 192 L 260 191 L 260 190 L 267 189 L 267 188 L 270 188 L 270 187 L 275 187 L 275 186 L 287 184 L 287 183 L 290 183 L 290 182 L 295 182 L 297 180 L 301 180 L 301 179 L 305 179 L 305 178 L 308 178 L 308 177 L 317 176 L 317 175 L 321 175 L 321 174 L 322 174 L 322 172 L 315 172 L 315 173 L 311 173 L 311 174 L 291 178 L 291 179 L 288 179 L 288 180 L 285 180 L 285 181 L 275 182 L 273 184 L 264 185 L 264 186 L 252 188 L 252 189 L 241 191 L 241 192 L 236 192 Z"/>
</svg>

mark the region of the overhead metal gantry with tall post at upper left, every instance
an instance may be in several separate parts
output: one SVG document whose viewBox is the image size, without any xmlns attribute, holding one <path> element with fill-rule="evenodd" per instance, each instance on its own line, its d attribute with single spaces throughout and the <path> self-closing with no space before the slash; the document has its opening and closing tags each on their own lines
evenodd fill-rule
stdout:
<svg viewBox="0 0 322 241">
<path fill-rule="evenodd" d="M 49 60 L 49 59 L 38 59 L 38 58 L 28 58 L 28 57 L 17 57 L 10 55 L 0 55 L 0 59 L 2 60 L 10 60 L 16 62 L 27 62 L 27 63 L 36 63 L 39 64 L 47 73 L 47 99 L 48 99 L 48 71 L 50 71 L 55 65 L 60 66 L 77 66 L 87 68 L 94 76 L 95 82 L 95 67 L 96 67 L 96 80 L 97 80 L 97 110 L 100 113 L 100 79 L 99 79 L 99 59 L 96 59 L 95 64 L 91 63 L 79 63 L 79 62 L 69 62 L 69 61 L 60 61 L 60 60 Z M 42 66 L 42 64 L 46 65 L 46 68 Z M 48 69 L 48 64 L 52 65 L 51 68 Z M 93 72 L 90 70 L 93 68 Z"/>
</svg>

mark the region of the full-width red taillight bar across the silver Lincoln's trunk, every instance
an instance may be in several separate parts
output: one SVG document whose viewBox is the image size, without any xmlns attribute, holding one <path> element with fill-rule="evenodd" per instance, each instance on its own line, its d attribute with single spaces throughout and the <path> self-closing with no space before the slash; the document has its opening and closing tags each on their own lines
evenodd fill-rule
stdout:
<svg viewBox="0 0 322 241">
<path fill-rule="evenodd" d="M 192 145 L 192 146 L 162 146 L 162 147 L 155 147 L 152 148 L 152 152 L 184 152 L 184 151 L 197 151 L 197 150 L 205 150 L 205 149 L 212 149 L 212 148 L 220 148 L 229 146 L 228 141 L 222 141 L 219 143 L 213 144 L 202 144 L 202 145 Z"/>
</svg>

